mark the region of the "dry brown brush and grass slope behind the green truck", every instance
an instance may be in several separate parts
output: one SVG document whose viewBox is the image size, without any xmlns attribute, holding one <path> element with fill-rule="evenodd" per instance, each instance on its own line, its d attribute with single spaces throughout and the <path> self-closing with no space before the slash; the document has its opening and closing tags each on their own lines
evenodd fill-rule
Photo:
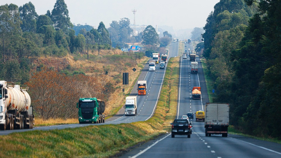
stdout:
<svg viewBox="0 0 281 158">
<path fill-rule="evenodd" d="M 32 74 L 33 77 L 29 82 L 33 108 L 44 120 L 61 117 L 64 119 L 76 118 L 76 102 L 79 97 L 97 97 L 106 100 L 105 114 L 112 116 L 122 107 L 125 95 L 129 94 L 130 87 L 133 87 L 140 71 L 148 61 L 148 58 L 144 57 L 138 63 L 138 55 L 137 53 L 137 62 L 134 60 L 135 55 L 132 55 L 131 59 L 130 53 L 123 53 L 118 49 L 100 50 L 100 56 L 97 51 L 89 52 L 89 60 L 87 60 L 87 54 L 68 54 L 64 58 L 50 56 L 38 58 L 34 61 L 32 71 L 35 73 Z M 135 65 L 136 63 L 137 65 Z M 134 67 L 137 69 L 135 73 L 132 71 Z M 63 74 L 64 69 L 66 75 Z M 84 73 L 86 76 L 73 76 L 72 74 L 75 72 L 78 72 L 76 74 Z M 129 85 L 125 86 L 124 95 L 122 92 L 123 72 L 129 72 Z M 111 86 L 110 92 L 106 91 L 107 86 Z M 69 92 L 71 89 L 78 92 Z M 42 90 L 51 92 L 49 96 L 46 96 L 46 94 L 40 94 Z M 68 102 L 58 102 L 59 98 L 62 101 L 68 100 Z M 70 117 L 63 116 L 63 111 L 66 109 Z M 41 112 L 39 112 L 40 110 Z M 57 110 L 61 110 L 61 112 L 56 112 Z M 42 117 L 42 114 L 48 115 L 48 117 Z M 52 116 L 52 114 L 56 115 Z"/>
</svg>

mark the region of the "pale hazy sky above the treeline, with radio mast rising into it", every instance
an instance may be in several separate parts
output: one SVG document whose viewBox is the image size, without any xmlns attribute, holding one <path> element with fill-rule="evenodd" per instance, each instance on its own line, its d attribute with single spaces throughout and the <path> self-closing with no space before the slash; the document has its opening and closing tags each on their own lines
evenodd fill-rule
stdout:
<svg viewBox="0 0 281 158">
<path fill-rule="evenodd" d="M 23 6 L 29 1 L 38 15 L 52 11 L 56 0 L 0 0 L 0 5 Z M 136 25 L 172 26 L 174 30 L 204 27 L 206 19 L 219 0 L 64 0 L 72 23 L 97 27 L 102 21 L 107 27 L 112 20 L 129 18 Z"/>
</svg>

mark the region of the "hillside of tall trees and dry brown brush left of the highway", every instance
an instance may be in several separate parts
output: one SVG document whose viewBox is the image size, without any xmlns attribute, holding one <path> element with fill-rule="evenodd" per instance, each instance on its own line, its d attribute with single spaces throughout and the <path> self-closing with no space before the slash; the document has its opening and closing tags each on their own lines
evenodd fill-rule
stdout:
<svg viewBox="0 0 281 158">
<path fill-rule="evenodd" d="M 132 35 L 128 18 L 109 25 L 73 25 L 64 0 L 44 15 L 31 2 L 0 6 L 0 80 L 30 87 L 35 114 L 43 119 L 77 117 L 79 97 L 110 102 L 121 89 L 122 72 L 137 67 L 132 55 L 144 57 L 120 47 L 141 42 L 147 56 L 165 53 L 172 36 L 166 31 L 159 39 L 151 25 Z"/>
</svg>

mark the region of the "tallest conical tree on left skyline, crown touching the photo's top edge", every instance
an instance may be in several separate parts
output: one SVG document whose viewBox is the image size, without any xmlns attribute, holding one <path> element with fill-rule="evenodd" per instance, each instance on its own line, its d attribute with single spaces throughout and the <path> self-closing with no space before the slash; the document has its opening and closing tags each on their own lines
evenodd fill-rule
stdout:
<svg viewBox="0 0 281 158">
<path fill-rule="evenodd" d="M 67 32 L 68 28 L 73 28 L 73 24 L 68 17 L 68 9 L 64 0 L 56 0 L 51 19 L 54 22 L 54 28 L 56 30 L 62 29 L 64 32 Z"/>
</svg>

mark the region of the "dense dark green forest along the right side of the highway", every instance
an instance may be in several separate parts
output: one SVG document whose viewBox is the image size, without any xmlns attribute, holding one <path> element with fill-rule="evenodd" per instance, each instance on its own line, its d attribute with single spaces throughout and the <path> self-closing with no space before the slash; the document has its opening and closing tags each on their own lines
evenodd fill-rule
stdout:
<svg viewBox="0 0 281 158">
<path fill-rule="evenodd" d="M 281 138 L 281 1 L 221 0 L 204 27 L 214 102 L 230 103 L 230 123 Z"/>
</svg>

